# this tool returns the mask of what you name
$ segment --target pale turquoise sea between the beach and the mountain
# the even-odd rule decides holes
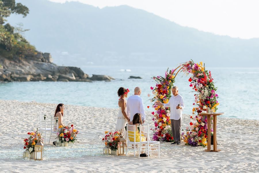
[[[172,69],[174,67],[170,67]],[[111,82],[10,82],[0,83],[0,99],[37,101],[43,103],[64,103],[69,105],[118,108],[117,90],[123,86],[134,94],[134,88],[142,88],[141,97],[145,110],[153,111],[147,94],[155,86],[153,76],[165,74],[167,67],[81,67],[89,75],[106,74],[116,80]],[[259,68],[210,68],[219,95],[218,112],[224,117],[259,120]],[[184,114],[191,114],[194,94],[189,86],[189,77],[179,73],[175,86],[183,96]],[[142,79],[128,79],[140,76]],[[147,108],[150,106],[151,108]],[[3,109],[3,108],[1,108]],[[54,108],[55,109],[55,108]]]

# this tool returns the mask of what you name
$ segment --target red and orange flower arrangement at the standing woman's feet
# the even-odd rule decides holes
[[[108,147],[112,151],[116,151],[119,147],[119,139],[120,139],[120,132],[115,131],[115,132],[108,132],[105,131],[105,137],[102,138],[102,141],[105,142],[105,146]]]

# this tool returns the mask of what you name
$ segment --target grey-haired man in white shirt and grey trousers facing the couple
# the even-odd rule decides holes
[[[178,87],[172,87],[172,93],[174,96],[170,98],[167,104],[163,104],[165,108],[170,107],[170,120],[171,120],[171,128],[172,135],[174,138],[174,142],[172,144],[181,144],[180,141],[180,131],[181,131],[181,119],[182,119],[182,111],[184,109],[184,101],[180,94],[178,94]],[[162,105],[160,101],[156,101],[157,105]],[[179,106],[178,106],[179,105]]]

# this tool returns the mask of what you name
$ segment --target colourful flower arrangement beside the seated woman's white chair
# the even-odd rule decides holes
[[[77,134],[79,131],[74,128],[74,125],[71,126],[62,126],[60,125],[58,127],[57,131],[57,142],[63,143],[63,142],[72,142],[74,143],[77,140]]]

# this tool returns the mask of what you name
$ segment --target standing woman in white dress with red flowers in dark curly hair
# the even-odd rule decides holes
[[[125,126],[127,124],[127,122],[129,122],[129,118],[127,117],[127,101],[126,101],[126,97],[128,96],[129,93],[129,89],[125,89],[123,87],[120,87],[118,90],[118,96],[120,97],[119,99],[119,115],[117,118],[117,124],[116,124],[116,128],[115,131],[119,131],[121,133],[123,133],[123,138],[127,138],[127,134],[125,131]],[[127,140],[127,139],[126,139]]]

